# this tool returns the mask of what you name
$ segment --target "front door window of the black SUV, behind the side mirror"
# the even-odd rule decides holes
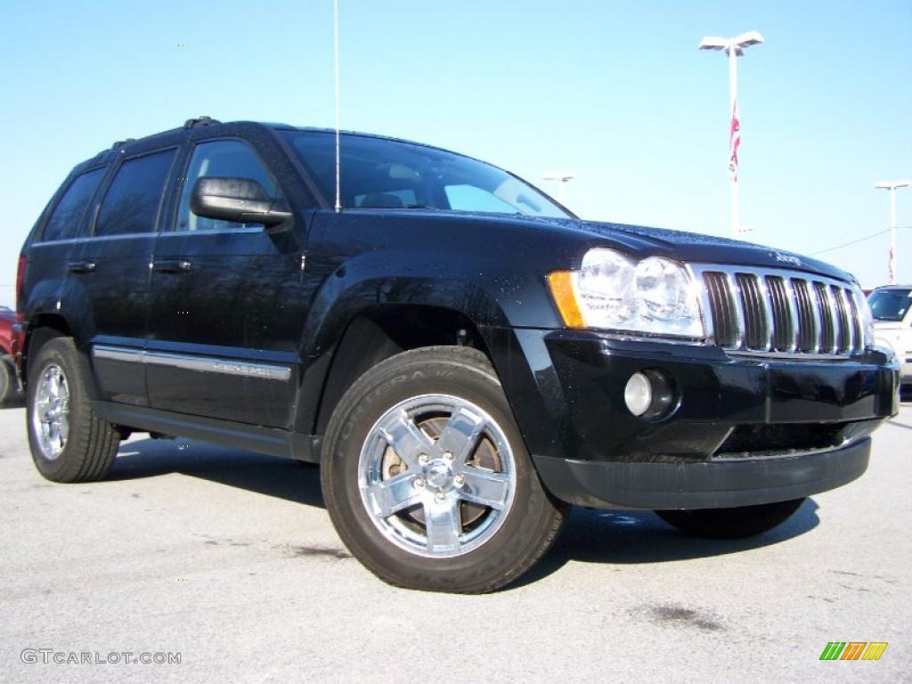
[[[209,219],[204,216],[197,216],[190,211],[190,195],[193,191],[193,185],[198,179],[205,176],[247,178],[260,183],[270,197],[276,197],[278,192],[275,179],[266,170],[254,150],[251,150],[246,143],[241,140],[202,142],[193,148],[193,156],[187,169],[187,177],[183,181],[181,204],[178,209],[177,225],[174,230],[230,230],[260,225],[259,223],[233,223],[231,221]]]

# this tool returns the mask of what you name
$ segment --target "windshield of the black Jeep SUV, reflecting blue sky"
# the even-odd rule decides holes
[[[336,197],[336,136],[284,131],[326,200]],[[341,203],[360,209],[441,209],[567,218],[570,213],[515,176],[482,161],[399,140],[341,138]]]

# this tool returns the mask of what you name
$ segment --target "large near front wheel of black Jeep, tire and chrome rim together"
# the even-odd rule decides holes
[[[322,459],[339,536],[395,586],[493,591],[532,567],[564,521],[491,364],[470,347],[415,349],[368,370],[333,412]]]

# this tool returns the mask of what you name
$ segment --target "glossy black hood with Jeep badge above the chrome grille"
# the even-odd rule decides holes
[[[552,223],[558,230],[569,230],[592,236],[592,238],[601,238],[636,256],[646,254],[667,256],[694,264],[735,264],[782,268],[840,280],[854,280],[853,276],[845,271],[817,259],[741,240],[624,223],[601,223],[573,219],[536,219],[535,223],[540,221]],[[601,242],[601,240],[597,242]],[[593,246],[596,246],[596,240],[593,240]]]

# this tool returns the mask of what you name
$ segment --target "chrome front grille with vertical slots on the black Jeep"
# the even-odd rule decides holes
[[[710,342],[755,354],[849,356],[864,348],[858,292],[780,269],[693,265]]]

